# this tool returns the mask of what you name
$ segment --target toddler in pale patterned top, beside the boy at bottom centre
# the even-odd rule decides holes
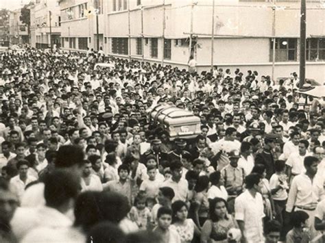
[[[138,194],[134,199],[134,206],[130,210],[130,218],[138,225],[139,229],[145,230],[150,223],[150,210],[146,207],[145,196]]]

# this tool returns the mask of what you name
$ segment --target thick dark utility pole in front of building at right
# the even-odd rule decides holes
[[[302,88],[306,75],[306,0],[301,0],[300,8],[299,88]]]

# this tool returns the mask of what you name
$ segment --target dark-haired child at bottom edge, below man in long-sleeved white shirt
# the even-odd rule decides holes
[[[308,243],[310,233],[306,228],[309,215],[304,211],[296,211],[291,214],[291,225],[293,229],[287,233],[286,243]]]

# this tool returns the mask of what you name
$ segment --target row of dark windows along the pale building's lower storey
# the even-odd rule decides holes
[[[69,43],[71,49],[86,50],[88,48],[88,38],[77,38],[78,47],[76,48],[76,38],[62,38],[62,47],[64,42]],[[136,55],[143,55],[143,39],[136,38]],[[176,47],[189,47],[188,39],[177,39]],[[91,38],[89,38],[91,42]],[[107,38],[105,38],[105,44]],[[144,38],[144,44],[149,44],[150,57],[158,58],[158,38]],[[273,40],[270,40],[269,61],[273,60]],[[112,53],[128,55],[128,38],[112,38]],[[171,39],[164,40],[164,58],[171,59]],[[298,39],[297,38],[276,38],[275,43],[275,61],[276,62],[294,62],[297,61]],[[306,60],[319,61],[325,60],[325,38],[309,38],[306,40]]]

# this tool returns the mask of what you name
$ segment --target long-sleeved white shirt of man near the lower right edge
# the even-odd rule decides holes
[[[324,188],[320,177],[314,177],[313,181],[306,175],[300,174],[293,178],[286,211],[291,212],[293,206],[313,208],[314,204],[322,199]]]

